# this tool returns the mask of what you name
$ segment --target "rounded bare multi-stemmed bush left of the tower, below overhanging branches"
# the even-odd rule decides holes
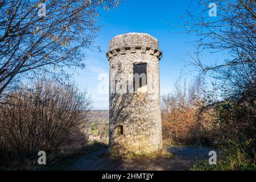
[[[0,105],[0,144],[6,150],[18,156],[56,151],[89,121],[92,100],[86,91],[51,80],[23,87]]]

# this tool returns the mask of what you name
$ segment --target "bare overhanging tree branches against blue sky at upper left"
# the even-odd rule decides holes
[[[116,6],[112,0],[1,0],[0,94],[15,78],[83,68],[81,48],[98,31],[98,8]]]

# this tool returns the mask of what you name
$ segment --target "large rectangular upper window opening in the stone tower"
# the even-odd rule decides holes
[[[147,64],[133,65],[133,91],[146,92]]]

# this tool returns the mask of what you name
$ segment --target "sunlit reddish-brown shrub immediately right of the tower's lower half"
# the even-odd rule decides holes
[[[177,81],[174,92],[162,97],[164,144],[208,143],[212,116],[200,112],[204,105],[203,89],[200,79],[188,87],[185,82]]]

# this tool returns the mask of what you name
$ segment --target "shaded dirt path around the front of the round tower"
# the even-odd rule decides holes
[[[189,170],[193,162],[209,158],[210,147],[168,147],[175,156],[169,159],[110,159],[101,150],[77,160],[67,170]]]

